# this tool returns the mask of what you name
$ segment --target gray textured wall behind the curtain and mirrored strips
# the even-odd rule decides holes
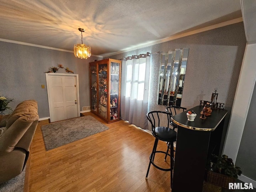
[[[199,104],[199,100],[210,100],[214,88],[218,88],[217,101],[225,103],[225,109],[229,111],[225,119],[224,134],[226,134],[245,46],[244,26],[240,22],[109,58],[122,59],[146,52],[167,52],[175,48],[189,48],[181,106],[192,108]],[[153,54],[151,58],[149,108],[165,110],[166,106],[156,103],[160,55]]]

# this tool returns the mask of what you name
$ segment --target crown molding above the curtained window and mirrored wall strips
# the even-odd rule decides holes
[[[126,50],[122,50],[122,51],[118,51],[118,52],[102,54],[101,56],[108,57],[108,56],[112,56],[112,55],[116,55],[116,54],[120,54],[120,53],[124,53],[124,52],[128,52],[128,51],[133,51],[133,50],[136,50],[136,49],[140,49],[140,48],[148,47],[148,46],[151,46],[151,45],[167,42],[167,41],[170,41],[170,40],[174,40],[174,39],[190,36],[190,35],[197,34],[197,33],[200,33],[200,32],[204,32],[204,31],[208,31],[208,30],[224,27],[224,26],[227,26],[227,25],[239,23],[239,22],[242,22],[242,21],[243,21],[243,18],[240,17],[240,18],[236,18],[236,19],[233,19],[233,20],[229,20],[229,21],[225,21],[225,22],[222,22],[222,23],[218,23],[218,24],[215,24],[215,25],[211,25],[211,26],[207,26],[207,27],[204,27],[204,28],[200,28],[200,29],[197,29],[197,30],[193,30],[193,31],[190,31],[190,32],[185,32],[185,33],[182,33],[182,34],[174,34],[174,35],[169,36],[167,38],[163,38],[161,40],[157,40],[157,41],[154,41],[154,42],[143,44],[141,46],[136,46],[136,47],[133,47],[133,48],[130,48],[130,49],[126,49]]]

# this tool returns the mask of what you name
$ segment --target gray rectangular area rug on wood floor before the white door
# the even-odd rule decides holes
[[[46,151],[108,130],[92,116],[54,122],[41,126]]]

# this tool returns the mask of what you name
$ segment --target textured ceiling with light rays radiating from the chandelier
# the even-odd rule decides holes
[[[106,55],[242,17],[240,0],[0,0],[0,39]]]

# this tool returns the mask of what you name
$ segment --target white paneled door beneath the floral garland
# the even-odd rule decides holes
[[[78,75],[46,74],[50,121],[79,116]]]

